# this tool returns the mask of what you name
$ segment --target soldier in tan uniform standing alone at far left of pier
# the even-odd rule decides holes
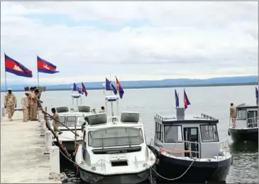
[[[8,93],[4,96],[4,108],[8,110],[9,121],[13,121],[13,113],[17,107],[16,96],[11,92],[11,88],[8,89]]]

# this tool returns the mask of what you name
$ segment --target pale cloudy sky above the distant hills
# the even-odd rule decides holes
[[[258,2],[5,1],[1,82],[4,53],[33,70],[8,84],[36,83],[37,55],[44,84],[258,75]]]

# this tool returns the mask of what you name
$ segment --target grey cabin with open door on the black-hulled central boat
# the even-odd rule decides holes
[[[173,156],[213,158],[219,154],[218,119],[206,114],[184,116],[184,108],[177,108],[177,117],[155,116],[154,144]]]

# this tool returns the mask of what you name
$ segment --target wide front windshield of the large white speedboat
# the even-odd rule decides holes
[[[112,146],[136,146],[143,143],[141,129],[113,127],[89,131],[88,144],[94,148]]]

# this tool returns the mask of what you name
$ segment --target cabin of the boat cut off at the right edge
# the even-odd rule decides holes
[[[258,128],[258,105],[240,104],[236,107],[236,114],[237,129]]]

